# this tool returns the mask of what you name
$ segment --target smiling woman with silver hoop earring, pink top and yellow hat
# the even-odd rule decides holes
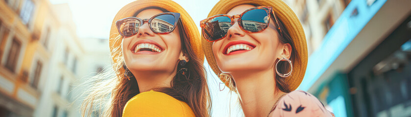
[[[282,0],[220,0],[208,17],[200,23],[207,61],[239,94],[245,117],[332,116],[313,95],[294,91],[306,71],[307,43]]]

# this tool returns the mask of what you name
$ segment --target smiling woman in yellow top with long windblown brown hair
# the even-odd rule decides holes
[[[100,104],[106,107],[103,117],[208,117],[211,102],[198,32],[171,0],[125,5],[110,31],[115,75],[89,91],[82,116]],[[107,95],[109,101],[101,105]]]

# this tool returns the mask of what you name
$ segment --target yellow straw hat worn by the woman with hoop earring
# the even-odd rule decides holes
[[[307,41],[305,39],[303,27],[301,26],[297,16],[282,0],[220,0],[213,7],[213,9],[211,9],[208,17],[218,14],[227,14],[232,8],[242,4],[271,6],[277,18],[280,19],[284,23],[284,26],[288,29],[291,39],[294,42],[295,49],[300,57],[300,61],[292,61],[293,67],[291,76],[285,78],[286,82],[289,84],[290,91],[295,90],[304,78],[308,61]],[[212,50],[213,42],[205,40],[203,36],[201,37],[201,41],[208,64],[213,69],[214,73],[219,75],[221,71],[217,66],[216,59],[214,58]],[[230,87],[229,79],[221,78],[221,81],[223,81],[226,86]],[[234,91],[235,89],[230,88],[230,90]]]

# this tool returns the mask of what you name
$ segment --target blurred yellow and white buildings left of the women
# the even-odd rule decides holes
[[[79,39],[68,4],[0,0],[0,117],[80,117],[82,82],[110,68],[108,39]]]

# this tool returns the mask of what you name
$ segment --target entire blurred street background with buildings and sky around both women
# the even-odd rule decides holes
[[[110,26],[132,1],[0,0],[0,117],[80,117],[80,84],[112,69]],[[218,2],[175,1],[199,30]],[[411,0],[284,1],[308,45],[298,89],[336,117],[411,117]],[[237,95],[204,66],[212,117],[242,117]]]

